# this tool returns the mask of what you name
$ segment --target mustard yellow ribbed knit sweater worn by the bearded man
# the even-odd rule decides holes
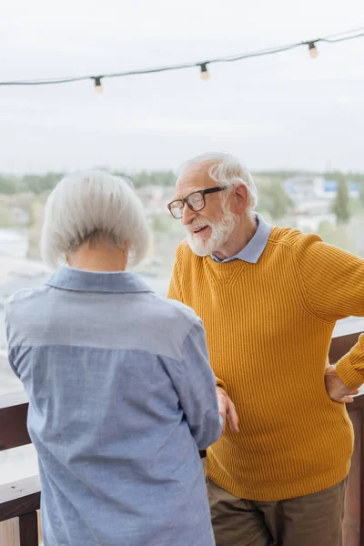
[[[235,402],[239,433],[207,450],[207,474],[239,498],[278,501],[324,490],[349,471],[353,431],[325,389],[335,322],[364,316],[364,260],[315,235],[274,227],[257,264],[177,249],[168,298],[207,330],[217,384]],[[364,382],[364,336],[338,363]]]

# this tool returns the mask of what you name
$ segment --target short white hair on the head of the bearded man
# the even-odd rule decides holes
[[[244,184],[248,189],[248,210],[254,210],[258,205],[258,190],[248,168],[230,154],[207,153],[193,157],[180,167],[178,177],[191,167],[210,165],[208,175],[218,186],[233,187]]]

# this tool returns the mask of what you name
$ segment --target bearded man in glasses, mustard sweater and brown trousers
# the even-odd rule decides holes
[[[230,425],[207,451],[217,546],[339,546],[364,336],[336,367],[328,352],[336,321],[364,315],[364,261],[268,226],[257,200],[237,159],[210,154],[168,205],[187,229],[168,297],[203,319]]]

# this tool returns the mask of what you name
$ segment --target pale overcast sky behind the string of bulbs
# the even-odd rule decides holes
[[[204,61],[364,26],[362,0],[2,0],[0,81]],[[207,151],[251,170],[364,171],[364,37],[149,76],[0,86],[0,172],[176,169]]]

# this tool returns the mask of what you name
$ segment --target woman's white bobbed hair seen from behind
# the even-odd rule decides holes
[[[97,238],[127,249],[131,265],[146,256],[147,218],[132,183],[98,170],[62,178],[45,204],[42,258],[57,268],[65,264],[66,254]]]

